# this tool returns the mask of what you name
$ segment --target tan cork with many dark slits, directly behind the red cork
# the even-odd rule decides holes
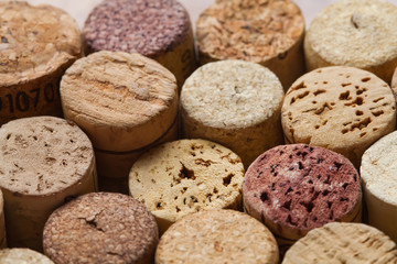
[[[369,72],[324,67],[292,84],[281,124],[286,142],[326,147],[360,167],[364,151],[395,130],[396,102],[390,87]]]

